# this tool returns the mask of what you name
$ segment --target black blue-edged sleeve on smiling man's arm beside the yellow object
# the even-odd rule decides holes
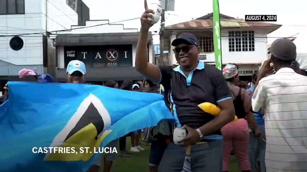
[[[214,86],[214,92],[216,97],[216,103],[224,100],[232,99],[228,84],[223,76],[222,71],[212,66],[212,72],[210,73],[212,84]]]

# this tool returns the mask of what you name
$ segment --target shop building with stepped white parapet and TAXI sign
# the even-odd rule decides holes
[[[110,24],[108,20],[86,21],[84,26],[72,26],[71,31],[57,34],[54,37],[57,81],[66,81],[67,64],[76,59],[85,63],[89,84],[142,80],[142,75],[134,68],[138,37],[138,29]],[[155,63],[151,33],[147,41],[148,62]]]

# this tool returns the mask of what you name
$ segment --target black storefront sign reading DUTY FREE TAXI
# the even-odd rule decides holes
[[[71,60],[80,60],[87,67],[132,66],[132,45],[64,47],[65,66]]]

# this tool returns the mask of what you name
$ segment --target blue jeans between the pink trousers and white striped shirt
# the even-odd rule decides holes
[[[265,153],[266,142],[264,125],[258,125],[258,129],[261,131],[261,137],[255,136],[253,131],[250,132],[250,141],[248,144],[248,154],[251,163],[251,172],[257,172],[256,163],[260,162],[260,172],[266,172]]]

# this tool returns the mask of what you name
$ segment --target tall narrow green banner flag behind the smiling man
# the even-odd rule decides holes
[[[217,69],[222,70],[219,0],[213,0],[213,42],[214,42],[215,66]]]

